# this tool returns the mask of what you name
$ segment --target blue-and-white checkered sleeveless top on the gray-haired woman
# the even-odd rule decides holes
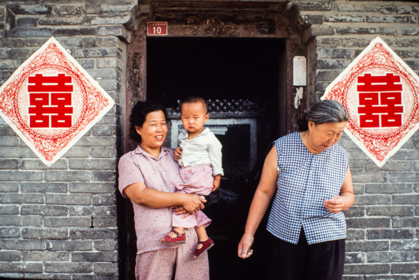
[[[349,166],[348,153],[335,144],[311,154],[298,132],[279,138],[274,146],[278,181],[267,230],[292,244],[297,244],[301,228],[308,244],[346,238],[344,213],[329,212],[323,202],[339,196]]]

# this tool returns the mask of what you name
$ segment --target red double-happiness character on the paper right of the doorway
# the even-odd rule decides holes
[[[400,77],[392,73],[358,77],[360,127],[402,126],[402,84],[395,82]]]

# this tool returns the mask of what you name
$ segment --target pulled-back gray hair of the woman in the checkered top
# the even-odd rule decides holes
[[[311,106],[304,118],[298,121],[298,126],[300,131],[307,131],[309,121],[313,121],[314,124],[325,124],[348,121],[348,119],[348,112],[341,103],[327,99]]]

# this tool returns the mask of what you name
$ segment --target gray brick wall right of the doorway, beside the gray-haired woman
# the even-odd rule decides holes
[[[313,24],[304,34],[311,103],[376,36],[419,74],[418,2],[330,1],[324,10],[297,6]],[[348,136],[341,139],[351,154],[355,187],[355,203],[346,212],[345,280],[419,279],[418,144],[417,132],[378,168]]]

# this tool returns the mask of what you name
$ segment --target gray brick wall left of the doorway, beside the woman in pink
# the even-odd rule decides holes
[[[116,102],[50,168],[0,119],[0,278],[119,279],[115,191],[129,40],[122,24],[134,6],[0,3],[0,84],[54,36]]]

